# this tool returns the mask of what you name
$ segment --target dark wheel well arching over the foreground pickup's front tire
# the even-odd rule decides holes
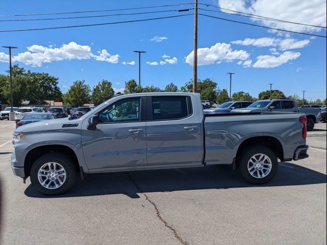
[[[77,169],[79,169],[78,159],[75,152],[65,145],[59,144],[51,144],[51,145],[42,145],[38,146],[37,148],[32,149],[25,158],[24,167],[25,167],[25,176],[30,176],[30,170],[33,163],[38,159],[40,156],[50,153],[50,152],[58,152],[66,154],[67,156],[71,157],[76,164]]]

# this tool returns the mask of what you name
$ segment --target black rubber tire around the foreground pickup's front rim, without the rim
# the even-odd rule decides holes
[[[65,169],[66,172],[66,179],[63,182],[63,184],[56,188],[56,189],[48,189],[41,185],[41,183],[38,180],[38,171],[44,165],[48,162],[56,162],[62,165],[62,167]],[[32,165],[31,171],[30,171],[30,178],[31,183],[33,187],[40,193],[44,195],[58,195],[62,194],[69,189],[73,187],[75,184],[75,181],[77,179],[77,168],[74,163],[74,161],[63,153],[47,153],[41,157],[39,157]]]

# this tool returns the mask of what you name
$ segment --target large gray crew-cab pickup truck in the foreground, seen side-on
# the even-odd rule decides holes
[[[214,164],[263,184],[275,176],[277,159],[308,157],[306,121],[300,113],[204,115],[198,93],[124,94],[80,118],[17,128],[11,167],[46,195],[89,173]]]

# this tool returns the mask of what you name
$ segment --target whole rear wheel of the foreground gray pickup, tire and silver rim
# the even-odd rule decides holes
[[[266,146],[249,146],[239,157],[242,176],[252,184],[265,184],[277,173],[276,154]]]

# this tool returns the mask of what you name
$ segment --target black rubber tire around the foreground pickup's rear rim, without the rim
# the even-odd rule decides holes
[[[266,177],[263,178],[255,178],[253,177],[248,170],[248,162],[252,158],[252,156],[256,154],[264,154],[270,158],[271,161],[271,170]],[[278,170],[278,161],[276,154],[271,151],[266,146],[256,146],[251,145],[245,148],[240,156],[238,157],[238,165],[240,166],[241,174],[244,177],[245,180],[250,182],[251,184],[265,184],[269,182],[271,179],[273,179],[277,173]]]

